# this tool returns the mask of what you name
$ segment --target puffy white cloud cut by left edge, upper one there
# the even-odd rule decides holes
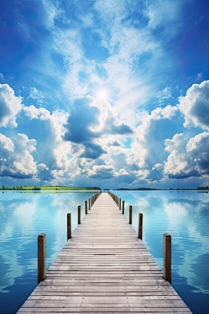
[[[0,84],[0,126],[17,127],[16,117],[22,107],[22,97],[15,96],[8,84]]]

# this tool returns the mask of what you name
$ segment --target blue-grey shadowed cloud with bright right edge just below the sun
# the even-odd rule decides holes
[[[107,101],[93,97],[76,101],[65,126],[65,140],[82,144],[85,149],[80,156],[89,159],[97,159],[107,152],[101,143],[103,137],[133,132],[130,126],[119,121]]]

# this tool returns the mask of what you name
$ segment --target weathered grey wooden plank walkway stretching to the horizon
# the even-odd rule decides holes
[[[102,193],[18,313],[191,313]]]

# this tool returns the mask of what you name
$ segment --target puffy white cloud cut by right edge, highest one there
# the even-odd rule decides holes
[[[179,97],[179,109],[183,113],[185,127],[199,126],[209,129],[209,81],[193,84],[186,95]]]

